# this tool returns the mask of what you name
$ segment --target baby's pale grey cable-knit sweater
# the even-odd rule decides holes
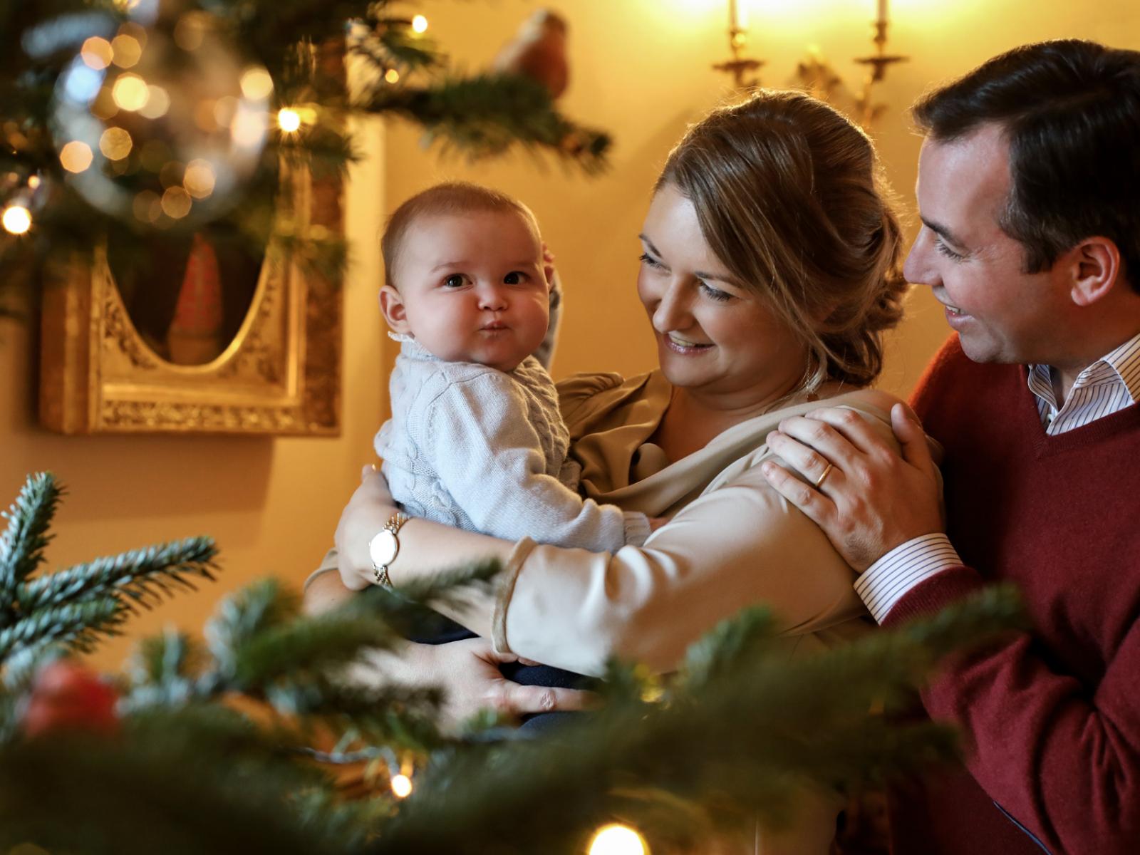
[[[612,552],[640,546],[649,518],[583,499],[549,374],[535,357],[504,373],[448,363],[413,339],[390,380],[376,454],[409,514],[508,540]]]

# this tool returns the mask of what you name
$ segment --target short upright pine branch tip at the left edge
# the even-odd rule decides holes
[[[50,472],[27,477],[16,502],[0,513],[8,527],[0,535],[0,605],[9,605],[16,587],[43,563],[43,551],[51,540],[48,527],[56,515],[64,487]],[[5,613],[6,612],[6,613]],[[15,616],[0,612],[0,626]]]

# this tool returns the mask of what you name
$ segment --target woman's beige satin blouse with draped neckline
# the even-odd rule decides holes
[[[821,402],[742,422],[670,464],[649,442],[671,394],[660,372],[576,376],[559,392],[586,495],[671,519],[616,553],[520,542],[496,604],[496,649],[580,674],[601,674],[611,656],[665,671],[752,603],[773,609],[796,652],[869,628],[854,571],[759,470],[767,433]],[[856,390],[825,405],[858,412],[895,443],[889,414],[871,400]]]

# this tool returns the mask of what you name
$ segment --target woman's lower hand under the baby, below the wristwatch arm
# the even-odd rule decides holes
[[[578,689],[524,686],[499,673],[503,662],[515,662],[512,653],[496,653],[486,638],[448,644],[412,644],[398,654],[376,651],[352,667],[351,678],[366,685],[398,683],[439,686],[443,690],[440,726],[454,730],[488,707],[512,716],[554,710],[580,710],[594,706],[597,695]]]

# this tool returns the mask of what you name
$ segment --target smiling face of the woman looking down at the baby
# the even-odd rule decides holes
[[[640,237],[637,294],[670,383],[747,407],[804,376],[806,348],[714,255],[693,203],[674,185],[653,196]]]

